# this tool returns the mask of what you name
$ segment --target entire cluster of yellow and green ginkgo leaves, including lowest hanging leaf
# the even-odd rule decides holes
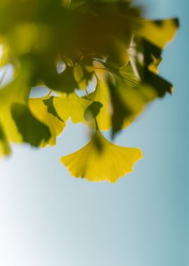
[[[10,155],[10,143],[55,146],[71,118],[92,132],[61,158],[71,175],[113,183],[132,172],[141,150],[116,146],[101,131],[114,137],[172,93],[158,66],[178,27],[176,18],[142,18],[129,0],[1,0],[1,71],[11,65],[14,77],[0,89],[0,156]],[[31,98],[34,87],[49,92]]]

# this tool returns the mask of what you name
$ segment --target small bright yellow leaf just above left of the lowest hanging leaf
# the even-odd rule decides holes
[[[90,104],[92,104],[91,101],[78,97],[75,92],[53,98],[53,105],[58,116],[64,121],[71,118],[72,123],[87,123],[85,110]]]

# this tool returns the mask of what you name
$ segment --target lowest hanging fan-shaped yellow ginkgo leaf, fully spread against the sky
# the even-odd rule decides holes
[[[99,131],[80,150],[60,160],[71,176],[88,181],[115,183],[120,176],[133,171],[134,164],[143,157],[139,148],[125,148],[111,144]]]

